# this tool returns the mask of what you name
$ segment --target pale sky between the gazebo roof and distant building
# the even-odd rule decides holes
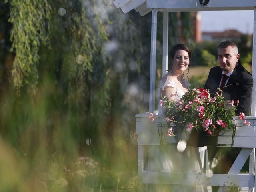
[[[254,11],[202,11],[202,32],[236,29],[245,34],[253,33]]]

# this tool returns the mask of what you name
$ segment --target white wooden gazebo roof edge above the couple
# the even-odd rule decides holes
[[[203,0],[204,1],[204,0]],[[213,11],[213,10],[254,10],[255,0],[208,0],[206,6],[200,4],[202,0],[115,0],[117,8],[124,13],[132,9],[141,16],[151,12],[152,9],[168,9],[168,11]],[[206,0],[207,2],[207,0]]]

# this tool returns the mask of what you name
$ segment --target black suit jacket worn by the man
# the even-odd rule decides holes
[[[211,68],[204,88],[209,89],[210,93],[215,93],[218,91],[221,77],[222,69],[220,66]],[[252,85],[252,75],[238,61],[233,74],[228,79],[227,87],[222,89],[224,100],[239,100],[236,116],[239,116],[240,112],[249,116],[252,103]]]

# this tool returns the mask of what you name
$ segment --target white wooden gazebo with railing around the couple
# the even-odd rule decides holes
[[[196,182],[199,185],[222,186],[218,191],[224,191],[227,186],[248,187],[249,191],[254,191],[256,187],[255,177],[255,148],[256,148],[256,0],[115,0],[117,8],[121,8],[124,13],[135,9],[141,16],[152,12],[151,24],[151,51],[150,51],[150,103],[149,112],[136,115],[136,132],[138,133],[138,186],[143,190],[144,184],[191,184]],[[242,147],[240,154],[234,162],[228,174],[213,174],[211,177],[206,173],[185,173],[185,180],[175,180],[178,173],[153,172],[144,170],[144,153],[147,146],[160,146],[160,139],[157,125],[164,122],[164,118],[155,118],[153,122],[148,120],[148,114],[155,111],[155,74],[156,74],[156,30],[157,13],[163,12],[163,55],[162,74],[168,67],[168,12],[180,11],[216,11],[216,10],[254,10],[254,33],[253,33],[253,60],[252,77],[253,95],[251,106],[251,117],[246,120],[251,122],[251,126],[243,126],[240,120],[234,120],[237,124],[236,136],[233,147]],[[234,18],[235,19],[235,18]],[[221,22],[221,21],[220,21]],[[232,139],[230,131],[218,137],[218,144],[226,144]],[[168,142],[175,143],[175,139],[170,137]],[[249,174],[240,175],[239,172],[250,155]],[[207,159],[207,157],[206,157]],[[204,157],[202,156],[202,160]],[[206,160],[207,161],[207,160]],[[200,178],[198,180],[198,178]]]

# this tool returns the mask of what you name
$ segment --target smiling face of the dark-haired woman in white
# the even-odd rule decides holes
[[[188,52],[185,50],[177,50],[171,62],[172,70],[177,74],[182,74],[189,65]]]

